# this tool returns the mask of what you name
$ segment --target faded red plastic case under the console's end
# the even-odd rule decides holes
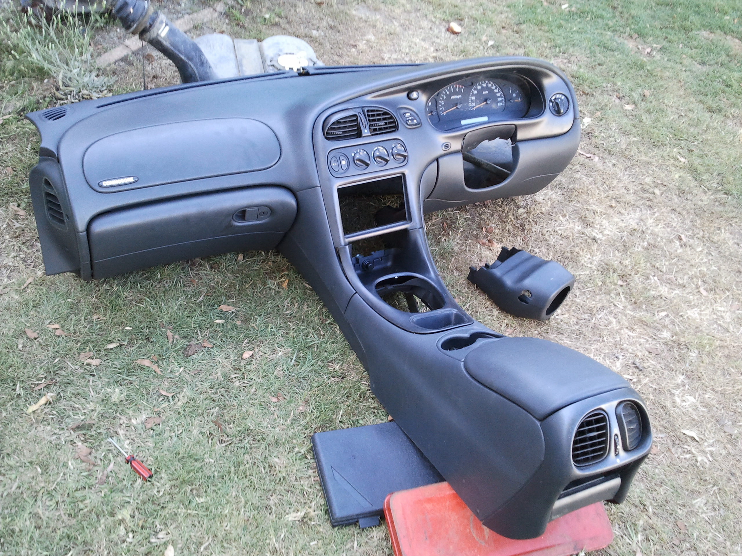
[[[535,539],[502,537],[483,526],[448,483],[393,492],[384,517],[394,556],[568,556],[613,540],[602,502],[559,517]]]

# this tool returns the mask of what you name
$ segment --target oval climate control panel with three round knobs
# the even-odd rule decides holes
[[[339,178],[374,172],[407,164],[407,147],[399,139],[388,139],[364,145],[330,150],[327,154],[329,173]]]

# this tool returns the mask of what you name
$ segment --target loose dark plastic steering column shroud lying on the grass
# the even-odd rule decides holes
[[[548,320],[574,286],[574,276],[555,261],[502,248],[495,262],[470,268],[468,279],[503,311],[525,319]]]

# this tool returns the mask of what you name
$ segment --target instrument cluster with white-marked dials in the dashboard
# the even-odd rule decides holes
[[[427,119],[447,131],[522,118],[531,105],[530,89],[525,79],[513,75],[461,79],[430,97]]]

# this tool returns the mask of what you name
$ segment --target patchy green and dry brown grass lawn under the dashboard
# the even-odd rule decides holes
[[[161,5],[178,17],[207,4]],[[601,554],[741,555],[742,5],[226,7],[191,34],[296,35],[327,64],[523,54],[565,70],[580,101],[580,153],[534,196],[427,216],[433,256],[485,325],[582,351],[645,397],[655,447],[627,502],[608,507],[615,539]],[[463,33],[446,33],[449,21]],[[33,62],[22,36],[35,31],[3,25],[0,554],[162,555],[172,545],[176,555],[390,555],[383,526],[329,524],[309,437],[387,413],[285,259],[226,254],[89,283],[43,275],[27,185],[39,139],[22,114],[86,93],[60,90]],[[63,38],[83,69],[85,56],[125,38],[105,19],[88,26],[89,41],[78,31]],[[148,84],[177,82],[154,53],[88,83],[134,90],[142,64]],[[562,262],[574,294],[548,322],[502,314],[465,280],[469,265],[497,255],[479,239]],[[186,357],[188,344],[201,348]],[[52,402],[27,414],[45,393]],[[108,437],[154,480],[138,480]]]

